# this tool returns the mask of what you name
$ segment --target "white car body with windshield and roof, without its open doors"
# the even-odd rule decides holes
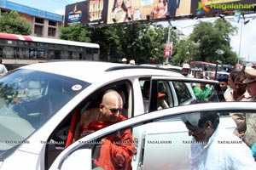
[[[131,118],[163,109],[159,94],[167,107],[190,104],[195,94],[187,81],[192,80],[157,68],[90,61],[46,62],[9,71],[0,77],[0,169],[48,169],[72,143],[67,136],[77,121],[73,117],[98,107],[109,88],[119,91],[123,115]],[[144,105],[147,81],[150,93]]]

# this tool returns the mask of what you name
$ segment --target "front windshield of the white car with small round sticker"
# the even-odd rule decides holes
[[[0,78],[0,155],[27,137],[90,85],[71,77],[20,69]]]

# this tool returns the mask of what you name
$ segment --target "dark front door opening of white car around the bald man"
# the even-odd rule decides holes
[[[100,111],[99,106],[102,103],[102,96],[109,89],[116,90],[122,97],[122,116],[125,116],[125,118],[130,118],[132,116],[133,105],[131,100],[131,82],[113,82],[97,89],[81,103],[78,103],[77,108],[55,128],[53,133],[51,133],[47,140],[45,150],[46,167],[49,168],[51,163],[55,160],[55,157],[74,141],[94,132],[84,130],[84,127],[89,126],[90,123],[96,122]]]

